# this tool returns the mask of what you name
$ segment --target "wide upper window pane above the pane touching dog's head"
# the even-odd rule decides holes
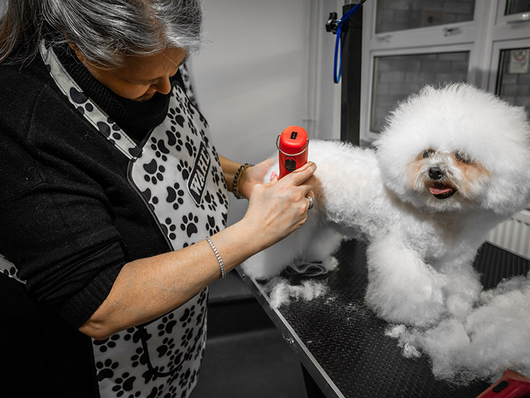
[[[375,32],[472,21],[475,0],[377,0]]]

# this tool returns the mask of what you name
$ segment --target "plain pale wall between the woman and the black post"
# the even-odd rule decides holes
[[[220,154],[257,163],[275,153],[276,136],[292,124],[314,131],[316,122],[317,130],[326,131],[324,138],[333,136],[328,127],[332,122],[322,126],[320,120],[320,115],[333,115],[333,98],[320,98],[334,92],[332,66],[326,72],[321,66],[323,57],[322,64],[333,65],[333,52],[317,48],[333,42],[331,34],[323,38],[331,10],[320,15],[329,3],[337,0],[204,0],[205,40],[191,69],[199,106]],[[312,38],[315,29],[319,33]],[[318,50],[317,72],[311,76],[310,48]],[[327,85],[321,75],[328,78]],[[231,196],[229,223],[243,216],[246,205],[246,200]]]

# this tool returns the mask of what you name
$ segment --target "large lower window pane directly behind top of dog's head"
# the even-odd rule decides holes
[[[469,52],[375,57],[370,131],[379,132],[397,101],[425,84],[466,82]]]

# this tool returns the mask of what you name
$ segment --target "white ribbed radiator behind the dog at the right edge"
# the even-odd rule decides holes
[[[530,258],[530,210],[516,213],[494,228],[486,237],[488,242]]]

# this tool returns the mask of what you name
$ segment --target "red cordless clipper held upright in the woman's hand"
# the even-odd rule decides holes
[[[276,147],[280,156],[280,175],[282,178],[301,168],[308,163],[308,133],[302,127],[289,126],[278,138],[276,138]]]

